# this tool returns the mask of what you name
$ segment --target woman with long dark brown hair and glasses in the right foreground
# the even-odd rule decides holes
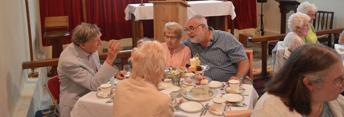
[[[321,44],[294,49],[267,83],[251,117],[344,117],[341,56]]]

